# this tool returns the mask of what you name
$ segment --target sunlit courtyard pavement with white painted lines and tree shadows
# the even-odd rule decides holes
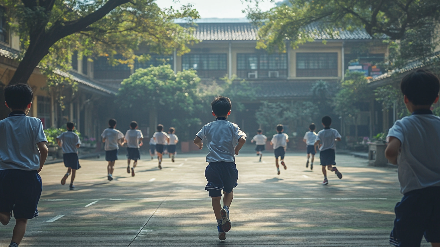
[[[179,154],[176,162],[143,155],[136,176],[119,156],[114,180],[107,181],[106,161],[80,160],[76,189],[62,186],[62,163],[45,165],[40,216],[29,220],[20,247],[257,247],[389,246],[394,205],[400,201],[396,168],[367,166],[367,160],[337,155],[342,180],[330,173],[321,185],[319,161],[305,168],[303,153],[289,153],[287,170],[276,174],[274,158],[251,153],[236,157],[238,187],[232,202],[232,229],[217,238],[202,153]],[[15,221],[0,227],[7,246]],[[422,246],[430,246],[422,240]]]

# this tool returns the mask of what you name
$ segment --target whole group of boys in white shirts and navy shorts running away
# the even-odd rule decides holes
[[[396,204],[394,228],[390,234],[390,243],[396,247],[420,246],[422,236],[432,244],[440,247],[440,117],[434,116],[431,106],[439,100],[440,82],[430,71],[417,70],[406,75],[400,84],[404,103],[412,112],[411,116],[397,120],[387,135],[388,146],[385,156],[392,164],[399,166],[398,176],[400,191],[403,194],[401,202]],[[42,181],[39,172],[43,169],[48,155],[48,142],[44,135],[41,121],[26,116],[32,105],[33,91],[27,84],[16,84],[4,88],[6,106],[11,109],[9,116],[0,121],[0,222],[7,225],[12,214],[15,217],[15,228],[9,247],[18,247],[25,232],[28,219],[38,216],[37,204],[42,191]],[[226,239],[226,233],[231,229],[230,208],[234,197],[233,189],[238,185],[238,170],[235,165],[235,155],[238,155],[246,142],[246,134],[237,124],[231,123],[227,117],[231,114],[231,100],[218,96],[211,103],[212,114],[216,117],[213,122],[205,124],[194,138],[194,144],[199,149],[203,143],[209,153],[205,168],[207,184],[205,190],[212,200],[218,238]],[[309,164],[310,155],[313,168],[314,153],[320,150],[320,160],[326,179],[326,170],[335,172],[338,178],[341,173],[334,165],[335,142],[341,141],[337,130],[330,128],[331,118],[322,118],[323,130],[317,134],[315,125],[309,127],[304,136],[307,144]],[[112,180],[114,161],[117,160],[118,146],[127,143],[128,167],[132,172],[139,159],[139,147],[142,146],[143,135],[137,130],[137,123],[130,123],[130,130],[125,135],[115,129],[116,121],[109,121],[109,128],[103,134],[106,160],[108,163],[108,180]],[[73,132],[73,123],[67,123],[67,131],[58,136],[57,141],[64,152],[65,166],[68,172],[62,179],[66,182],[72,174],[70,188],[73,189],[75,171],[81,166],[76,155],[81,142]],[[170,146],[178,142],[173,134],[163,132],[163,126],[158,125],[154,133],[155,150],[158,152],[159,168],[161,168],[164,144],[168,143],[170,155],[175,150]],[[271,144],[275,153],[275,164],[278,168],[278,158],[286,169],[284,154],[288,135],[283,133],[282,125],[276,127],[277,134],[272,137]],[[173,137],[174,136],[174,137]],[[257,155],[262,156],[267,138],[258,131],[253,138],[257,144]],[[173,144],[174,143],[174,144]],[[130,168],[130,161],[134,160]],[[327,168],[327,169],[326,169]],[[221,203],[223,192],[223,206]]]

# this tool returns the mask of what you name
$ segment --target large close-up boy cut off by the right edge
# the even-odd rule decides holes
[[[389,130],[385,156],[399,166],[400,192],[390,243],[420,246],[422,236],[440,247],[440,118],[431,105],[439,100],[440,83],[430,71],[419,69],[400,83],[411,116]]]

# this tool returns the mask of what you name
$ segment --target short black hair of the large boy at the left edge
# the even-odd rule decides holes
[[[33,91],[25,83],[13,84],[4,88],[4,98],[9,108],[26,109],[26,106],[32,102]]]

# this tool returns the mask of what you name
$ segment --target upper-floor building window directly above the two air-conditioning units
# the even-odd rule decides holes
[[[237,74],[241,78],[287,78],[287,54],[238,53]]]

